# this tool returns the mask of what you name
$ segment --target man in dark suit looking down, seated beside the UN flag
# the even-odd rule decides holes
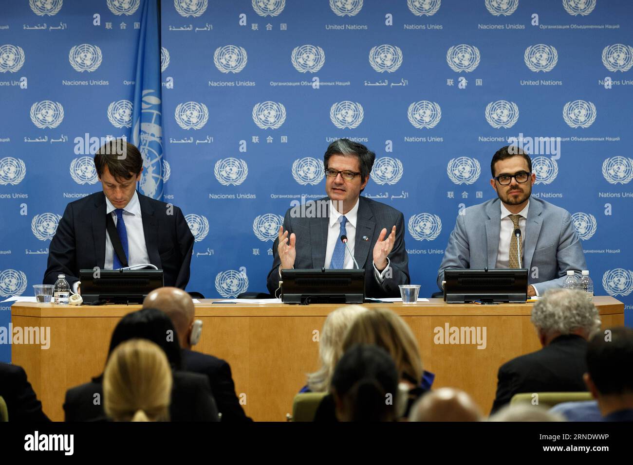
[[[165,285],[184,289],[194,237],[180,208],[135,190],[143,170],[141,152],[128,142],[112,140],[97,151],[94,164],[103,192],[66,206],[49,247],[44,284],[54,284],[63,273],[77,292],[79,270],[151,263],[163,270]],[[122,245],[120,253],[106,232],[108,216]]]

